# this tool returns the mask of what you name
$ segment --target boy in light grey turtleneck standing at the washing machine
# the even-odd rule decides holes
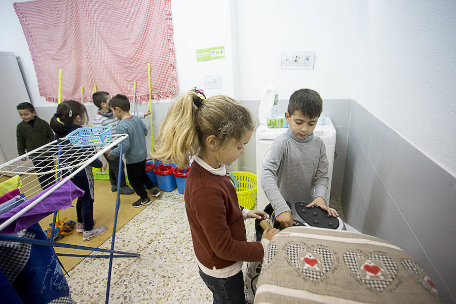
[[[322,110],[323,101],[316,91],[294,92],[285,112],[289,129],[276,138],[263,162],[261,186],[281,228],[292,226],[293,218],[298,219],[295,202],[308,203],[308,208],[319,206],[338,216],[327,204],[329,174],[325,144],[313,134]],[[286,202],[291,203],[291,209]]]

